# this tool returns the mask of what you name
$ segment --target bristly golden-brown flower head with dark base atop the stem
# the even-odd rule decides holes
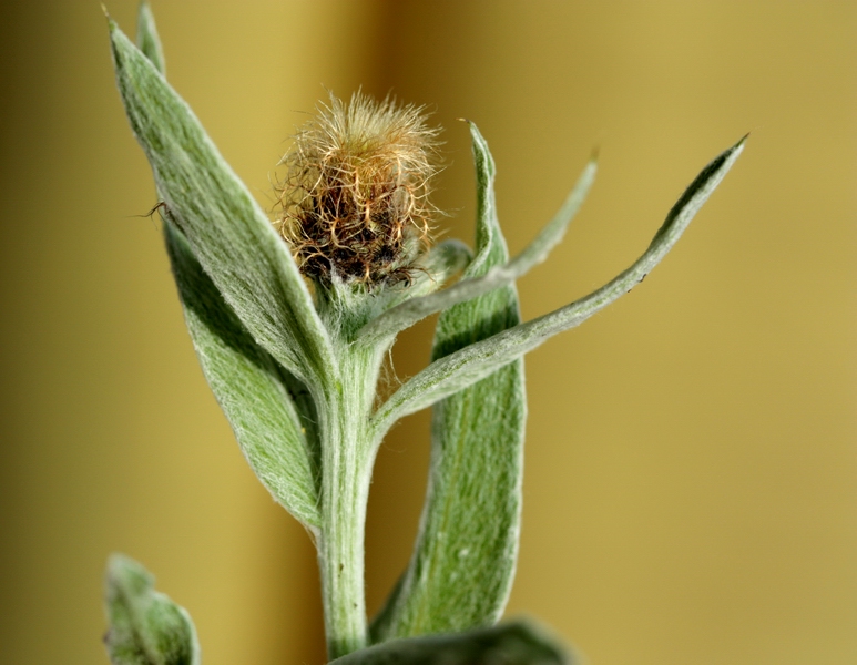
[[[408,277],[429,241],[438,130],[422,109],[330,95],[283,157],[279,229],[302,272],[367,286]]]

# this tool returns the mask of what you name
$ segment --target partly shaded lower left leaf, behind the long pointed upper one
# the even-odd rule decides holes
[[[200,365],[244,457],[278,503],[317,526],[318,437],[306,389],[253,340],[169,221],[164,235]]]

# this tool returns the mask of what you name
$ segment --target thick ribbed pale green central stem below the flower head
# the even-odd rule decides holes
[[[340,382],[328,393],[322,423],[322,529],[318,567],[327,655],[367,645],[364,532],[374,448],[367,424],[380,364],[375,350],[339,346]]]

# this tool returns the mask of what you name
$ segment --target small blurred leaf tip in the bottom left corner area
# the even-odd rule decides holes
[[[200,645],[190,615],[154,591],[137,562],[114,554],[108,562],[104,635],[113,665],[197,665]]]

